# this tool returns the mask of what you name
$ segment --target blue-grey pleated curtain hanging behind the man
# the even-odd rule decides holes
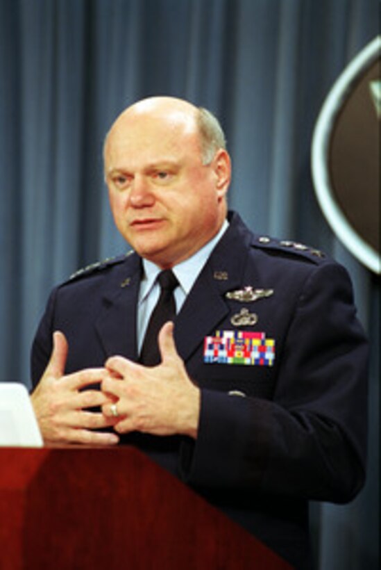
[[[378,0],[0,0],[0,381],[29,384],[53,286],[127,249],[108,210],[101,147],[149,95],[206,106],[226,129],[230,206],[255,231],[319,247],[348,268],[371,339],[366,488],[313,505],[321,570],[378,569],[380,283],[316,204],[316,116],[378,33]]]

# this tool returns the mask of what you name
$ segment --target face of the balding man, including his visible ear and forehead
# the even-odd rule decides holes
[[[228,154],[203,165],[194,115],[130,112],[105,149],[110,205],[120,233],[162,268],[187,259],[217,234],[226,215]]]

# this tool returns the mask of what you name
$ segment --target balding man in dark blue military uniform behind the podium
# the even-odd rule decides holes
[[[133,252],[51,294],[32,355],[46,443],[136,445],[306,568],[307,500],[364,483],[367,348],[346,270],[228,213],[223,133],[187,101],[121,113],[105,179]]]

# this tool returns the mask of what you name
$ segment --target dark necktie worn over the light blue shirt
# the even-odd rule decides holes
[[[160,363],[159,331],[167,320],[174,320],[176,316],[176,304],[173,297],[173,291],[178,286],[176,276],[170,269],[166,269],[159,274],[158,282],[161,293],[152,311],[139,358],[139,361],[146,366],[155,366]]]

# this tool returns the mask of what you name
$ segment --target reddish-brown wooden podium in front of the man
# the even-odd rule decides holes
[[[1,448],[1,570],[289,570],[135,448]]]

